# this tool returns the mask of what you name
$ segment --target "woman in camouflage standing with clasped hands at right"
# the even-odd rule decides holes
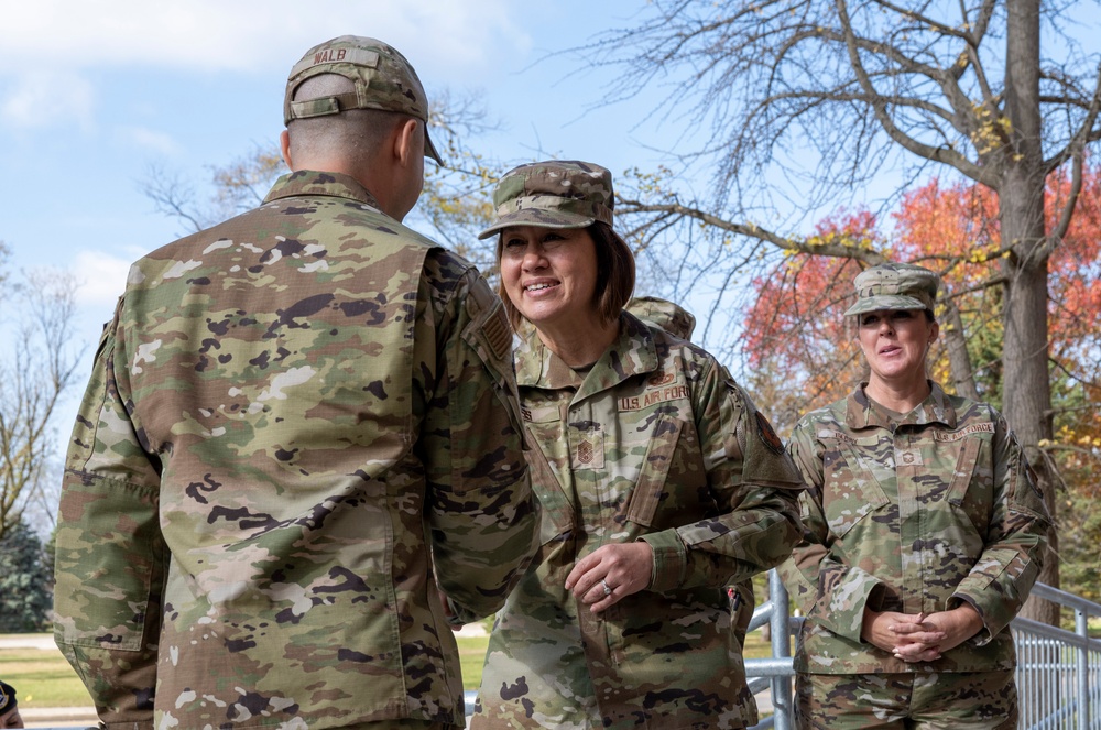
[[[869,380],[788,447],[809,487],[781,568],[806,614],[799,727],[1013,728],[1007,624],[1040,569],[1044,501],[1005,420],[926,379],[937,275],[891,263],[855,285]]]

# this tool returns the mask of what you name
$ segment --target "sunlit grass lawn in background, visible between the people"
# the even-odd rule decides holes
[[[42,634],[52,641],[48,634]],[[2,639],[4,636],[0,636]],[[456,636],[462,665],[462,686],[478,689],[489,636]],[[745,639],[745,657],[771,655],[767,642],[754,631]],[[0,649],[0,678],[15,687],[21,707],[90,707],[91,698],[56,647]]]

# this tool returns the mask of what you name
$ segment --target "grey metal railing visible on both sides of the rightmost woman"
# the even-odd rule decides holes
[[[1033,596],[1073,613],[1069,631],[1028,619],[1010,624],[1017,649],[1017,697],[1023,730],[1101,730],[1101,640],[1091,639],[1090,619],[1101,618],[1101,604],[1051,588],[1033,587]],[[745,674],[754,695],[771,690],[773,715],[752,730],[794,730],[792,635],[802,619],[787,612],[787,591],[776,570],[768,571],[768,600],[757,607],[750,631],[768,624],[772,657],[746,660]]]

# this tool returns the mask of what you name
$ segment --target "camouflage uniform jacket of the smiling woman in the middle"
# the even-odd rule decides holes
[[[630,314],[586,377],[532,334],[516,379],[543,547],[498,617],[471,727],[754,723],[724,587],[789,554],[802,489],[767,421],[711,356]],[[593,614],[564,588],[636,540],[647,589]]]

